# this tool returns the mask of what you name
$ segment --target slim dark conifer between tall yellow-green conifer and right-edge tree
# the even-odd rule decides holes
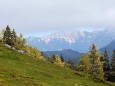
[[[107,80],[108,76],[110,75],[110,64],[109,64],[109,56],[108,52],[105,49],[104,55],[103,55],[103,71],[104,71],[104,77]]]

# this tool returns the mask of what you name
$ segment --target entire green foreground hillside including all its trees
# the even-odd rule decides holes
[[[0,86],[115,86],[115,50],[101,54],[95,44],[78,64],[48,56],[26,43],[9,26],[0,39]]]

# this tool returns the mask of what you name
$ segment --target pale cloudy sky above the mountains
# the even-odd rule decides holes
[[[25,36],[115,28],[115,0],[0,0],[0,29]]]

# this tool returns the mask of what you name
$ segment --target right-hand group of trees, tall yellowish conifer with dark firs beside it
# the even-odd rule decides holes
[[[80,58],[76,70],[87,73],[94,79],[115,81],[115,50],[110,61],[106,49],[101,54],[96,45],[92,44],[89,52]]]

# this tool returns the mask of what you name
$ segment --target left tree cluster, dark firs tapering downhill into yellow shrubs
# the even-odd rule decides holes
[[[9,26],[2,30],[0,42],[1,44],[7,44],[11,46],[11,49],[15,49],[32,57],[45,60],[44,56],[37,48],[33,48],[27,44],[26,39],[23,37],[22,33],[18,36],[15,30],[11,30]]]

